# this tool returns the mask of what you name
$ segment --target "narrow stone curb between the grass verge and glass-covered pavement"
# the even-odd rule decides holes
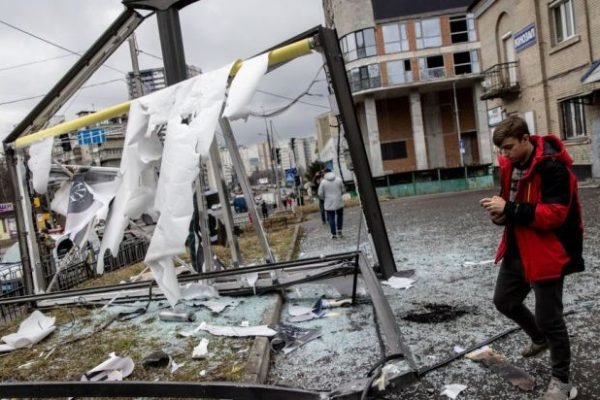
[[[294,250],[298,242],[298,236],[300,233],[300,223],[296,225],[294,233],[292,235],[292,243],[285,257],[285,261],[291,260],[294,255]],[[275,297],[275,302],[267,310],[263,316],[262,323],[266,325],[275,325],[279,323],[281,316],[281,307],[283,305],[283,297],[279,293]],[[267,374],[269,373],[269,364],[271,363],[271,346],[269,344],[269,338],[259,336],[254,338],[254,343],[250,349],[250,355],[248,356],[248,362],[242,377],[244,383],[263,384],[267,380]]]

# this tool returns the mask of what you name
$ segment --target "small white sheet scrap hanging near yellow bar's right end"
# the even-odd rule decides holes
[[[246,120],[248,118],[250,114],[248,104],[268,67],[269,53],[244,61],[240,70],[235,74],[233,82],[231,82],[223,117],[230,121],[240,118]]]

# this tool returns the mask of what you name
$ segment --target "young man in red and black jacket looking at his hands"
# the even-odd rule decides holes
[[[564,276],[583,271],[583,225],[573,160],[554,135],[530,135],[508,117],[494,131],[500,149],[500,196],[484,198],[492,222],[505,225],[496,262],[502,264],[494,304],[531,338],[521,354],[550,349],[552,377],[542,399],[570,398],[569,335],[563,318]],[[523,304],[533,289],[535,316]]]

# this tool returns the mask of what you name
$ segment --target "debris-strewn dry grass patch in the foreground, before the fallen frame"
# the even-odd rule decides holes
[[[75,324],[72,333],[51,334],[44,341],[31,349],[20,349],[1,358],[0,382],[4,381],[59,381],[79,380],[87,370],[95,367],[115,352],[121,357],[131,357],[135,369],[127,379],[139,381],[231,381],[241,380],[247,361],[247,354],[252,345],[252,339],[211,337],[210,359],[193,360],[189,357],[192,349],[198,344],[197,338],[181,339],[176,350],[169,351],[170,355],[185,366],[171,373],[168,368],[142,367],[141,361],[148,354],[160,350],[168,343],[159,333],[146,332],[138,329],[139,324],[129,326],[114,322],[109,328],[92,336],[80,334],[79,326],[91,324],[90,311],[85,309],[61,309],[47,313],[57,317],[57,325]],[[143,317],[142,317],[143,318]],[[143,324],[145,321],[141,321]],[[93,329],[103,323],[96,323]],[[7,329],[8,330],[8,329]],[[8,330],[12,331],[12,330]],[[76,343],[63,345],[65,341],[78,336],[83,339]],[[50,351],[52,353],[50,354]],[[47,358],[46,356],[49,355]],[[200,372],[207,371],[201,377]]]

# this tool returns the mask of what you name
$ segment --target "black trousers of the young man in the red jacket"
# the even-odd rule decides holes
[[[563,318],[563,281],[563,278],[559,278],[529,284],[524,279],[521,260],[505,258],[498,272],[494,304],[498,311],[523,328],[534,342],[548,341],[552,375],[567,382],[571,348]],[[535,294],[535,316],[523,304],[532,288]]]

